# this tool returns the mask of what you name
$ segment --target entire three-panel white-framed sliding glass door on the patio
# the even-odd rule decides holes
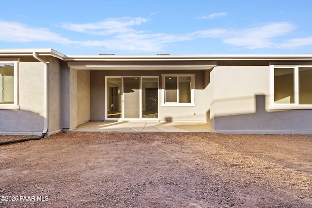
[[[106,119],[157,119],[158,77],[107,77]]]

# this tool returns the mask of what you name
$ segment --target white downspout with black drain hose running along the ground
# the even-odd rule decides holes
[[[48,131],[48,63],[42,60],[41,58],[39,58],[36,52],[33,52],[33,57],[44,64],[44,129],[42,131],[42,135],[41,137],[38,137],[38,138],[25,138],[25,139],[4,141],[4,142],[0,142],[0,145],[16,143],[16,142],[25,142],[29,140],[39,140],[39,139],[44,138]]]

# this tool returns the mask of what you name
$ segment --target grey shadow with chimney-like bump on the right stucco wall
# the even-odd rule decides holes
[[[312,131],[312,110],[279,110],[267,112],[265,95],[255,96],[255,112],[215,115],[211,126],[215,131]]]

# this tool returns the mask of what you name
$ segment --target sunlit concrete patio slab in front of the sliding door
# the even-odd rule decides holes
[[[72,132],[214,132],[206,122],[100,122],[90,121]]]

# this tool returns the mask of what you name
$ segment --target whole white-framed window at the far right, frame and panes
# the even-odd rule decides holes
[[[312,108],[312,66],[272,66],[271,77],[271,107]]]

